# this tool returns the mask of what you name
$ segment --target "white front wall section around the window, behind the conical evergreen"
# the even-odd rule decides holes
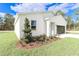
[[[19,16],[21,17],[20,18],[21,38],[23,37],[23,28],[24,28],[25,17],[27,17],[30,22],[31,22],[31,20],[36,20],[36,30],[32,30],[32,36],[39,36],[39,35],[45,34],[45,30],[44,30],[45,22],[43,20],[42,15],[40,15],[40,14],[20,14]]]

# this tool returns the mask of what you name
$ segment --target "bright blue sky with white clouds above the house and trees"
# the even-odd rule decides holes
[[[76,19],[77,16],[74,15],[76,9],[79,9],[78,3],[0,3],[0,16],[4,16],[5,13],[16,15],[16,13],[21,12],[61,10],[65,15],[69,15],[72,19]]]

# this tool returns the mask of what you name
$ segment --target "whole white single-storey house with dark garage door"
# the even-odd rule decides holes
[[[18,13],[15,18],[15,33],[23,38],[25,18],[30,21],[32,36],[55,36],[66,32],[66,20],[61,15],[53,15],[52,12]]]

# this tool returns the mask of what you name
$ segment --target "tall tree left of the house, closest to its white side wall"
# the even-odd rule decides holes
[[[14,29],[14,19],[15,19],[13,17],[13,15],[5,14],[4,19],[5,19],[5,21],[4,21],[5,30],[13,30]]]

